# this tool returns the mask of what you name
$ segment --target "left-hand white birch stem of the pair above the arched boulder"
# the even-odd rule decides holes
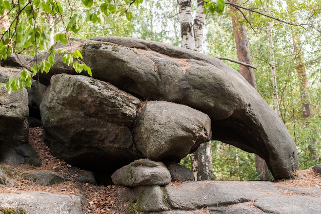
[[[178,0],[182,47],[195,50],[191,0]]]

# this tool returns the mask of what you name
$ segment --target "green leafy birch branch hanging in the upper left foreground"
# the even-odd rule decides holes
[[[133,13],[129,11],[131,5],[138,6],[143,0],[107,0],[100,4],[94,2],[93,0],[82,0],[82,3],[87,8],[91,8],[94,5],[99,5],[100,11],[91,13],[90,10],[87,12],[86,21],[91,21],[93,23],[100,22],[100,18],[97,16],[100,12],[104,13],[106,16],[111,14],[116,14],[121,16],[126,14],[128,21],[132,20]],[[59,20],[63,23],[63,32],[57,33],[54,36],[55,42],[61,42],[66,45],[68,43],[69,32],[78,33],[81,30],[81,25],[79,24],[79,17],[81,14],[73,14],[72,10],[68,23],[65,25],[63,17],[65,16],[65,11],[62,7],[61,2],[57,0],[20,0],[18,2],[14,1],[3,1],[0,0],[0,16],[5,14],[5,11],[9,11],[8,14],[11,15],[11,23],[9,29],[0,29],[0,60],[6,60],[15,49],[21,48],[21,50],[31,49],[35,53],[38,50],[45,50],[49,41],[49,30],[48,26],[43,23],[38,23],[38,21],[44,22],[46,16],[44,14],[55,16],[59,14]],[[79,50],[70,51],[67,50],[54,50],[54,45],[48,50],[49,55],[46,60],[36,63],[30,68],[30,72],[23,69],[19,77],[10,77],[6,83],[7,90],[11,91],[23,90],[24,87],[31,87],[31,79],[33,76],[37,75],[38,72],[50,71],[50,68],[55,63],[56,53],[63,54],[62,61],[66,65],[71,65],[77,73],[86,71],[88,75],[92,76],[92,71],[83,62],[83,55]],[[0,83],[0,87],[2,87]]]

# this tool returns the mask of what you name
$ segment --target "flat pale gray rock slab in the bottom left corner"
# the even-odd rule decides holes
[[[46,192],[0,194],[0,207],[23,209],[28,214],[82,214],[78,196]]]

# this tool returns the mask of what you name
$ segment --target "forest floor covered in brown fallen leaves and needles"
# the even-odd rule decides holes
[[[121,214],[128,212],[128,200],[132,196],[132,192],[129,188],[115,185],[98,186],[75,181],[66,181],[52,186],[41,186],[30,180],[25,180],[23,174],[26,172],[51,171],[64,178],[72,179],[78,176],[77,173],[82,171],[81,169],[67,164],[63,160],[53,157],[50,153],[50,149],[42,140],[42,131],[42,127],[29,129],[29,143],[34,147],[39,158],[42,159],[42,166],[33,167],[25,164],[2,164],[2,166],[5,166],[7,169],[7,176],[13,179],[16,185],[14,187],[2,187],[0,188],[0,193],[42,191],[55,194],[83,195],[85,196],[85,199],[82,200],[83,214]],[[321,178],[320,174],[312,169],[298,170],[293,173],[293,179],[276,181],[274,182],[274,185],[319,189],[321,187]],[[289,195],[296,194],[291,191],[283,193]]]

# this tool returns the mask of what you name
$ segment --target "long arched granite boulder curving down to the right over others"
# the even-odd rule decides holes
[[[215,57],[132,38],[96,37],[70,45],[82,51],[95,79],[139,99],[184,104],[208,114],[213,140],[258,154],[275,179],[288,178],[298,167],[295,143],[282,120],[242,75]],[[75,73],[61,55],[55,62],[48,74],[39,74],[42,83],[49,84],[56,73]]]

